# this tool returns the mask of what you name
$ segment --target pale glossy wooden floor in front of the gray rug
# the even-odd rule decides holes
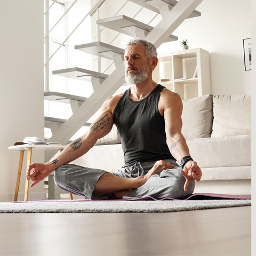
[[[173,213],[3,213],[0,255],[251,255],[251,207]]]

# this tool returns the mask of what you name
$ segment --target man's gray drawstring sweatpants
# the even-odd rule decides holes
[[[128,197],[139,198],[152,196],[156,199],[163,197],[185,198],[193,193],[195,181],[189,183],[185,192],[183,186],[185,178],[180,174],[182,168],[173,159],[164,159],[165,162],[174,165],[174,168],[162,171],[159,175],[151,176],[148,181],[137,189],[131,189]],[[121,167],[113,175],[124,178],[136,178],[147,174],[154,162],[137,162],[127,167]],[[93,195],[93,190],[99,178],[106,173],[105,170],[92,169],[74,164],[65,164],[55,170],[54,181],[56,185],[68,193],[84,196],[90,199],[114,199],[113,194],[103,196]]]

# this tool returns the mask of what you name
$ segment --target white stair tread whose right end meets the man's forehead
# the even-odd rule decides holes
[[[102,42],[75,45],[75,50],[91,53],[110,60],[113,59],[113,54],[124,55],[124,49]]]

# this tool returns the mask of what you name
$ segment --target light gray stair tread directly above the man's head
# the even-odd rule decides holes
[[[118,15],[115,17],[100,19],[97,20],[97,24],[132,37],[136,37],[134,30],[144,31],[146,34],[148,34],[154,28],[125,15]],[[170,41],[175,41],[177,39],[178,38],[176,36],[170,36]]]

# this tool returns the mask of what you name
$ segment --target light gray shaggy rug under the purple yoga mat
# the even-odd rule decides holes
[[[250,199],[189,201],[31,201],[1,202],[0,213],[178,212],[249,205],[251,205]]]

